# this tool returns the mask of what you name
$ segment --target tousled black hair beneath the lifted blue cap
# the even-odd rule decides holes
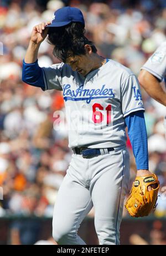
[[[63,27],[49,27],[48,42],[55,46],[53,55],[63,62],[71,56],[85,55],[85,45],[90,45],[92,52],[97,52],[94,43],[85,37],[85,28],[80,22],[71,22]]]

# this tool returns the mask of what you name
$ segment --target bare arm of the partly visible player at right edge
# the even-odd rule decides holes
[[[157,77],[147,70],[141,70],[138,80],[140,85],[154,100],[166,106],[166,92],[163,90]]]

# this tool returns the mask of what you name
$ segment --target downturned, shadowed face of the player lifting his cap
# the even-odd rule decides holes
[[[79,72],[82,76],[86,76],[92,69],[87,55],[68,57],[66,64],[70,65],[73,71]]]

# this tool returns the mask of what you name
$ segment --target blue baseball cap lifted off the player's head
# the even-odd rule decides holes
[[[71,22],[81,22],[85,26],[84,17],[80,9],[68,6],[56,10],[51,24],[46,27],[62,27]]]

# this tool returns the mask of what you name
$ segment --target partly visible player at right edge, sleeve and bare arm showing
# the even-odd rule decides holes
[[[141,68],[139,83],[154,100],[166,106],[166,91],[161,82],[166,82],[166,41],[164,41]],[[166,85],[166,83],[165,83]],[[166,116],[164,119],[166,137]]]

